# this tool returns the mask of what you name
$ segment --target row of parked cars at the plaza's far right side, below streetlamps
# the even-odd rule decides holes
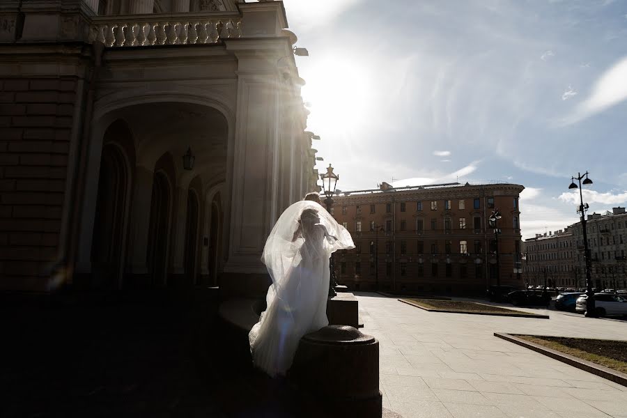
[[[527,288],[516,290],[511,286],[490,286],[488,299],[490,301],[510,302],[516,306],[543,306],[549,307],[552,295],[559,294],[555,298],[555,309],[560,311],[573,311],[583,314],[586,311],[587,295],[585,289],[557,289]],[[598,316],[627,316],[627,291],[605,289],[597,292],[593,289],[595,309]]]

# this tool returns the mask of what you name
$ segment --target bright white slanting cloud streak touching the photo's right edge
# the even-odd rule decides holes
[[[577,123],[626,99],[627,57],[624,57],[599,77],[589,97],[579,104],[574,114],[564,118],[559,124]]]

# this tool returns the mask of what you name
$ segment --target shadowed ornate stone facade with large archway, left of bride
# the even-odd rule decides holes
[[[0,0],[0,290],[264,293],[317,187],[287,27],[280,1]]]

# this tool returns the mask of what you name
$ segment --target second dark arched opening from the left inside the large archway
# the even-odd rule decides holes
[[[150,199],[146,260],[152,286],[163,286],[167,280],[171,195],[167,176],[163,171],[157,171],[153,178],[153,192]]]

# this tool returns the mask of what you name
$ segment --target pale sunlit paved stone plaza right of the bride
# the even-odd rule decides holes
[[[428,312],[357,293],[380,342],[383,406],[404,418],[627,418],[627,387],[493,336],[627,340],[627,323],[543,309],[550,319]]]

